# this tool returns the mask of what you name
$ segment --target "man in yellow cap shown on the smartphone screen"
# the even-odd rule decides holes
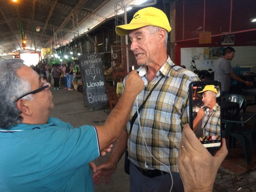
[[[214,85],[206,85],[202,91],[197,92],[202,97],[203,108],[197,112],[193,121],[193,130],[196,131],[202,120],[202,137],[220,135],[220,106],[216,102],[217,89]]]

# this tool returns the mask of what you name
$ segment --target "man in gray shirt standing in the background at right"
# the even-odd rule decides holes
[[[231,67],[230,61],[235,57],[235,49],[232,47],[226,47],[223,50],[222,56],[217,60],[214,66],[214,80],[221,83],[221,95],[227,95],[230,87],[230,78],[240,81],[246,85],[253,85],[250,81],[245,81],[235,75]]]

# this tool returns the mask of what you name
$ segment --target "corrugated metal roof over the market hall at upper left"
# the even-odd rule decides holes
[[[115,2],[121,1],[124,6],[135,2]],[[86,33],[115,16],[114,4],[114,0],[1,0],[0,54],[22,49],[21,29],[27,49],[40,51],[65,45],[74,34]],[[116,9],[120,7],[116,4]]]

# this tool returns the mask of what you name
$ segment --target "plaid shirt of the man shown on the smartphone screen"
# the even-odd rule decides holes
[[[203,136],[220,135],[220,123],[220,106],[216,103],[212,108],[212,112],[206,111],[203,117],[202,128],[205,125]]]

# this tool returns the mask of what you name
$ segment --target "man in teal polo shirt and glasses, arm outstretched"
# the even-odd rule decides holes
[[[74,128],[50,117],[51,85],[23,60],[0,61],[0,71],[0,191],[94,191],[88,164],[121,134],[144,85],[137,72],[103,126]]]

